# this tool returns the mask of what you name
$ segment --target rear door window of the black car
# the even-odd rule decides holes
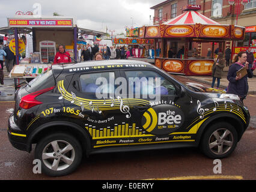
[[[79,79],[82,92],[107,94],[114,94],[114,80],[114,72],[82,74]]]

